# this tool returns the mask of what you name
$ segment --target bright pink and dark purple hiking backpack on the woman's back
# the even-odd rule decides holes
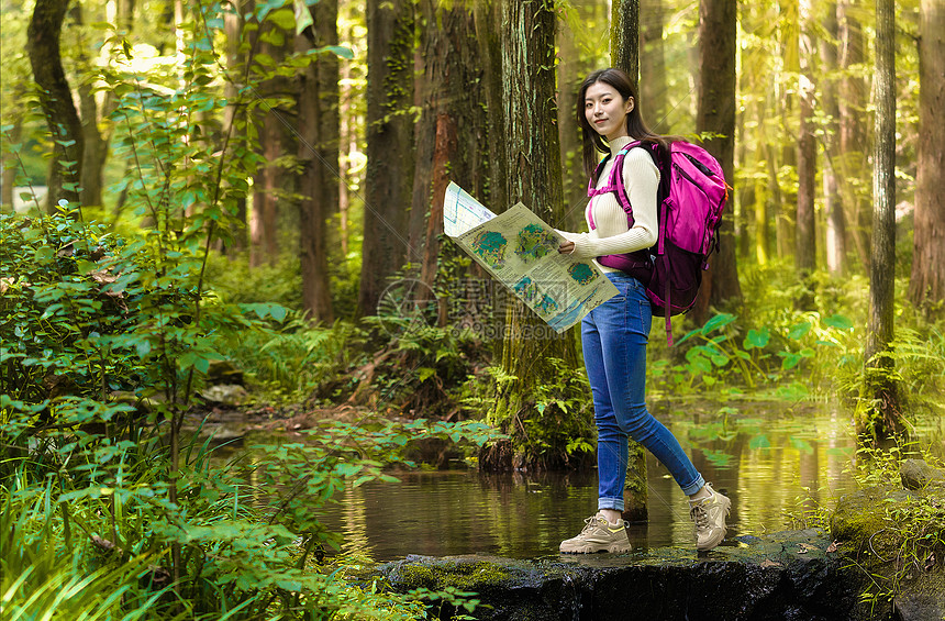
[[[598,257],[598,263],[631,274],[646,270],[646,295],[656,317],[666,318],[666,340],[672,345],[670,317],[687,312],[696,304],[702,271],[709,256],[719,249],[715,232],[729,199],[729,185],[722,166],[701,146],[677,141],[669,153],[656,143],[633,142],[618,152],[607,186],[597,189],[597,179],[607,158],[598,165],[588,184],[588,196],[615,192],[633,226],[633,207],[623,186],[623,158],[634,147],[646,148],[659,168],[656,245],[648,251]],[[608,156],[609,157],[609,156]],[[594,228],[591,215],[591,229]]]

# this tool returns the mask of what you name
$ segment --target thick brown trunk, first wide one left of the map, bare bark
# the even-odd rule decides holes
[[[367,1],[367,179],[357,314],[374,314],[408,246],[413,190],[412,0]]]

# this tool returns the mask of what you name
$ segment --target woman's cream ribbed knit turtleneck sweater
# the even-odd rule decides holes
[[[631,142],[633,138],[620,137],[610,143],[611,158],[601,171],[598,188],[607,185],[616,153]],[[589,215],[593,213],[597,229],[590,233],[558,231],[566,240],[575,243],[575,249],[570,256],[591,258],[632,253],[648,248],[656,243],[656,193],[659,188],[659,169],[645,149],[632,148],[624,157],[623,184],[630,204],[633,207],[633,228],[627,229],[626,213],[613,192],[598,195],[591,198],[585,212],[588,228],[590,228]],[[602,265],[599,267],[604,271],[618,271]]]

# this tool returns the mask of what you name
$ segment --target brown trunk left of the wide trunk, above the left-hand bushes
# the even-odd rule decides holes
[[[337,45],[337,0],[310,9],[313,24],[297,37],[300,51]],[[338,209],[338,60],[322,53],[299,75],[298,85],[299,254],[302,307],[331,323],[329,219]]]

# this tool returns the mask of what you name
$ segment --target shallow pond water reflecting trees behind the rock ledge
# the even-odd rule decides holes
[[[849,414],[827,404],[685,402],[654,411],[715,489],[732,499],[732,537],[801,528],[805,512],[856,487]],[[942,422],[921,431],[937,437]],[[470,469],[407,472],[400,483],[349,487],[321,510],[344,536],[343,552],[391,561],[408,554],[557,555],[597,509],[597,473],[485,475]],[[649,520],[632,524],[635,548],[692,546],[688,503],[664,468],[647,459]]]

